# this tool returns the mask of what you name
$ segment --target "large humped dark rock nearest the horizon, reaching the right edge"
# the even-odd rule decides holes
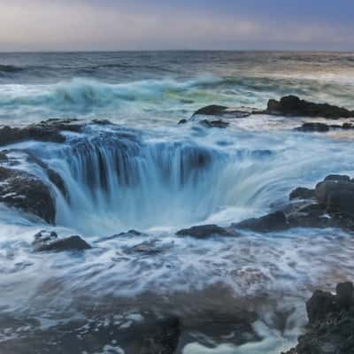
[[[269,100],[266,113],[299,117],[323,117],[328,119],[354,117],[354,112],[345,108],[331,104],[315,104],[301,100],[297,96],[284,96],[280,101]]]

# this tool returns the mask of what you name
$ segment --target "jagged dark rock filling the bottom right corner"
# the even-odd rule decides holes
[[[309,325],[288,354],[352,354],[354,297],[351,282],[338,284],[336,295],[316,291],[307,302]]]

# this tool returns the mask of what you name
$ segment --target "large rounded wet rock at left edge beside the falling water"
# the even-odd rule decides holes
[[[35,175],[0,166],[0,202],[54,223],[56,204],[50,187]]]

